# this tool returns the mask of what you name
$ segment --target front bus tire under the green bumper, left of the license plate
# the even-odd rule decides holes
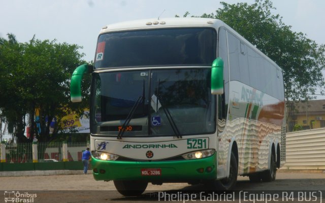
[[[139,196],[147,188],[145,181],[113,181],[116,190],[124,196]]]

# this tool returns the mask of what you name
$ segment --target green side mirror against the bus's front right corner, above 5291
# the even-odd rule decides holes
[[[223,60],[220,57],[212,62],[211,94],[223,94]]]

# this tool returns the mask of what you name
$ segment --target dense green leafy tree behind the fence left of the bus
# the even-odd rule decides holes
[[[7,118],[8,131],[18,142],[28,142],[24,129],[28,121],[30,133],[36,133],[39,141],[55,139],[62,129],[61,118],[67,111],[81,114],[88,107],[87,97],[83,103],[70,102],[70,78],[74,69],[85,63],[78,45],[57,43],[55,40],[41,41],[35,36],[28,43],[18,43],[15,36],[0,39],[0,108]],[[89,77],[83,95],[89,95]],[[80,106],[79,106],[80,105]],[[35,122],[35,111],[39,109],[40,120]],[[26,121],[27,115],[27,121]],[[50,133],[48,121],[56,118],[57,125]],[[39,127],[37,126],[39,125]],[[40,131],[38,130],[40,128]]]

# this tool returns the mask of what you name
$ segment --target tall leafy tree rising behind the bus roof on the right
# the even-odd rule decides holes
[[[291,31],[280,15],[273,14],[275,8],[269,0],[221,5],[215,13],[191,17],[222,20],[275,61],[283,71],[287,100],[310,99],[317,88],[324,93],[321,71],[325,67],[325,45],[317,45],[302,32]],[[184,17],[188,15],[186,12]]]

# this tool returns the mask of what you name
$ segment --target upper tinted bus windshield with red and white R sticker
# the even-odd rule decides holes
[[[216,35],[212,28],[103,33],[94,67],[211,65],[216,57]]]

